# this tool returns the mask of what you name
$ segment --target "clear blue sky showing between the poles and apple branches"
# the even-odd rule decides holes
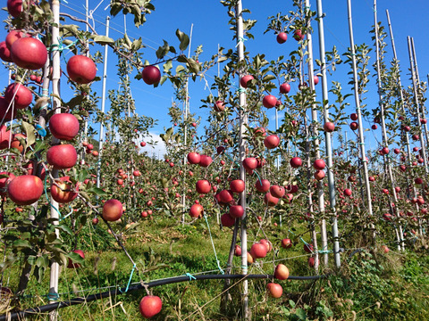
[[[310,1],[312,9],[315,10],[315,0]],[[62,11],[75,14],[80,19],[84,19],[82,15],[84,13],[85,1],[69,1],[62,3]],[[93,17],[95,18],[95,28],[99,34],[105,33],[105,17],[108,14],[108,9],[105,10],[107,1],[100,2],[89,1],[89,8],[95,10]],[[149,62],[156,60],[155,50],[163,43],[163,39],[167,40],[172,45],[178,45],[175,37],[175,30],[181,29],[182,31],[189,34],[190,26],[193,24],[193,35],[191,49],[195,50],[198,45],[203,45],[204,53],[200,56],[200,61],[209,59],[212,54],[216,53],[217,46],[221,45],[225,48],[231,48],[235,46],[232,41],[232,33],[229,30],[227,24],[229,17],[226,14],[226,8],[217,0],[181,0],[181,1],[161,1],[153,0],[153,4],[156,6],[156,11],[147,16],[147,23],[136,29],[132,25],[132,21],[129,20],[124,23],[122,16],[117,16],[111,21],[111,37],[119,37],[120,32],[127,29],[130,37],[142,37],[143,42],[148,46],[144,51],[144,59]],[[412,4],[412,5],[411,5]],[[324,12],[326,17],[325,23],[325,41],[326,49],[330,50],[333,45],[336,45],[339,53],[344,53],[349,46],[349,30],[348,30],[348,17],[347,17],[347,1],[339,0],[325,0],[324,1]],[[389,9],[391,14],[391,22],[395,41],[397,45],[397,52],[400,59],[400,65],[402,69],[402,81],[404,85],[410,85],[408,80],[408,47],[407,47],[407,36],[414,37],[416,45],[416,55],[418,60],[418,67],[421,78],[426,80],[425,75],[428,72],[428,64],[425,62],[426,55],[426,30],[428,29],[429,21],[427,20],[427,12],[429,10],[429,4],[427,1],[415,0],[415,1],[398,1],[398,0],[383,0],[378,1],[378,20],[382,21],[383,25],[387,29],[387,19],[385,10]],[[251,13],[245,16],[246,19],[257,20],[257,26],[253,29],[252,33],[255,39],[246,41],[246,49],[251,56],[257,53],[265,53],[268,60],[276,59],[279,55],[287,56],[291,50],[297,47],[297,42],[291,37],[288,41],[279,45],[275,41],[273,33],[263,34],[267,25],[267,17],[275,15],[277,12],[287,13],[292,9],[291,1],[264,1],[259,0],[244,0],[243,7],[248,8]],[[353,27],[355,33],[355,43],[362,44],[366,43],[371,45],[371,36],[369,30],[374,25],[374,12],[373,12],[373,1],[370,0],[353,0]],[[3,12],[3,17],[6,17],[6,12]],[[70,22],[70,21],[69,21]],[[318,58],[318,46],[317,46],[317,27],[316,22],[313,25],[315,29],[315,58]],[[82,27],[83,28],[83,27]],[[5,31],[0,33],[0,37],[5,37]],[[387,57],[391,58],[391,46],[390,38],[386,39],[388,42],[388,53]],[[98,48],[102,50],[102,48]],[[70,56],[71,53],[66,53],[66,57]],[[374,53],[372,53],[374,57]],[[373,61],[374,62],[374,61]],[[114,66],[114,54],[109,51],[108,59],[108,78],[107,87],[117,88],[118,79],[116,77],[116,70]],[[98,76],[102,75],[103,66],[98,66]],[[347,85],[349,81],[347,72],[348,68],[341,68],[333,74],[331,80],[340,81],[343,84],[344,94],[351,93],[351,87]],[[214,76],[217,70],[214,69],[208,72],[209,76]],[[6,78],[4,77],[7,73],[1,72],[2,81],[4,86],[7,85]],[[131,77],[133,77],[132,75]],[[65,85],[65,84],[64,84]],[[101,82],[94,85],[97,93],[101,95]],[[292,86],[292,91],[297,88]],[[316,88],[320,91],[320,86]],[[376,104],[376,84],[374,78],[371,79],[371,83],[368,86],[371,94],[368,95],[368,104]],[[139,114],[145,114],[147,116],[158,119],[158,126],[153,129],[153,132],[160,134],[163,132],[164,127],[169,127],[169,118],[167,111],[172,102],[172,87],[168,82],[165,82],[164,86],[153,88],[147,86],[143,81],[134,80],[131,84],[131,90],[133,98],[136,100],[137,112]],[[197,80],[195,84],[189,86],[190,96],[190,111],[197,113],[202,119],[206,118],[206,110],[199,109],[200,99],[208,95],[208,91],[205,89],[205,83]],[[320,94],[318,92],[318,94]],[[67,94],[65,94],[67,95]],[[353,99],[349,99],[350,111],[353,112]],[[272,115],[270,114],[272,113]],[[270,118],[273,117],[274,111],[268,111]],[[273,124],[270,126],[273,129]]]

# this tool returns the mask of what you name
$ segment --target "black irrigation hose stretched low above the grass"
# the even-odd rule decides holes
[[[248,279],[268,279],[273,276],[268,275],[202,275],[202,276],[176,276],[170,277],[162,280],[152,281],[147,284],[135,284],[130,285],[127,292],[137,291],[145,289],[146,287],[154,287],[164,284],[175,284],[186,281],[197,281],[197,280],[215,280],[215,279],[240,279],[240,278],[248,278]],[[318,280],[320,278],[324,278],[325,276],[289,276],[289,280]],[[66,307],[71,307],[73,305],[82,304],[86,302],[90,302],[93,300],[100,300],[104,298],[108,298],[110,296],[120,295],[126,291],[126,287],[112,289],[107,292],[101,292],[97,294],[88,295],[86,298],[75,298],[71,300],[58,301],[55,303],[46,304],[44,306],[40,306],[37,308],[25,309],[18,312],[6,313],[0,316],[0,321],[6,320],[21,320],[23,317],[34,316],[38,313],[46,313],[50,311],[54,311],[55,309],[62,309]]]

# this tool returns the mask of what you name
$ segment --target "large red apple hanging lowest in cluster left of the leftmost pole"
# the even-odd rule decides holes
[[[42,193],[43,182],[34,175],[15,177],[7,185],[9,198],[17,205],[29,205],[37,202]]]

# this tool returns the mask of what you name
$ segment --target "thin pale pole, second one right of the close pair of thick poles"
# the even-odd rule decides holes
[[[387,131],[386,131],[386,123],[384,119],[384,103],[383,103],[383,87],[382,87],[382,75],[380,70],[380,44],[379,44],[379,36],[378,36],[378,19],[377,19],[377,0],[374,0],[374,35],[375,35],[375,59],[376,59],[376,70],[377,70],[377,86],[378,86],[378,99],[380,104],[380,119],[382,122],[382,136],[383,136],[383,144],[384,147],[389,147],[389,142],[387,138]],[[396,205],[398,204],[398,195],[395,190],[395,184],[393,180],[393,174],[391,172],[391,161],[389,160],[389,157],[387,155],[384,155],[384,163],[387,168],[387,174],[389,176],[389,180],[391,183],[391,190],[393,193],[393,200],[394,200],[394,206],[389,204],[391,208],[391,212],[394,215],[396,212],[397,217],[400,217],[399,210],[396,208]],[[404,243],[402,241],[402,226],[400,225],[400,231],[398,232],[398,228],[396,225],[394,226],[395,234],[397,237],[397,246],[398,251],[404,248]]]

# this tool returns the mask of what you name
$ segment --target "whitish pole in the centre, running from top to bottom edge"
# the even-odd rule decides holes
[[[237,53],[239,56],[239,63],[244,61],[244,29],[243,29],[243,8],[241,4],[241,0],[237,1],[236,7],[235,7],[235,14],[236,14],[236,22],[237,22]],[[239,76],[240,79],[244,76],[242,71],[239,70]],[[241,83],[239,81],[239,83]],[[240,118],[240,179],[242,179],[245,182],[246,185],[246,170],[243,167],[243,161],[246,157],[246,140],[244,138],[245,132],[246,132],[246,125],[248,123],[248,118],[246,116],[246,113],[244,112],[244,109],[246,108],[246,91],[240,84],[240,97],[239,97],[239,103],[240,103],[240,111],[239,111],[239,118]],[[241,231],[240,231],[240,238],[241,238],[241,274],[247,275],[248,274],[248,230],[247,230],[247,222],[248,222],[248,215],[246,210],[246,193],[247,193],[247,187],[243,192],[240,193],[240,205],[244,209],[244,214],[240,218],[241,221]],[[242,303],[243,303],[243,316],[242,318],[244,320],[250,319],[250,310],[248,308],[248,280],[245,279],[243,281],[243,287],[242,287]]]

